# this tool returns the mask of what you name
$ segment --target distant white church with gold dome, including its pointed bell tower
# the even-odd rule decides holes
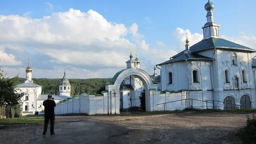
[[[26,93],[22,98],[23,101],[23,115],[32,115],[35,114],[35,111],[43,111],[44,106],[43,101],[47,99],[48,94],[41,94],[42,86],[36,85],[32,80],[32,68],[29,66],[26,67],[26,80],[20,85],[16,85],[18,92]],[[71,85],[66,78],[66,72],[61,79],[59,85],[59,95],[53,95],[54,101],[59,102],[62,99],[69,98],[71,96]]]

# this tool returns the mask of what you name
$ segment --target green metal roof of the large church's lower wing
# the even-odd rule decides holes
[[[179,56],[173,58],[173,59],[170,59],[170,60],[167,60],[161,64],[158,64],[158,65],[164,65],[164,64],[168,64],[168,63],[173,63],[173,62],[177,62],[177,61],[184,61],[186,59],[190,59],[190,60],[193,60],[193,59],[200,59],[200,60],[213,60],[212,58],[209,58],[209,57],[205,57],[205,56],[202,56],[202,55],[199,55],[199,54],[196,54],[196,53],[184,53],[184,52],[180,52],[179,53]]]

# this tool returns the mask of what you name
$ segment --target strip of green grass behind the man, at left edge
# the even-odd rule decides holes
[[[1,118],[0,125],[4,124],[35,124],[44,123],[44,116],[26,116],[20,118]]]

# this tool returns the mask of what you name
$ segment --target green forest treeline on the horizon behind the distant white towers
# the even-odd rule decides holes
[[[19,84],[23,83],[25,78],[19,78]],[[83,93],[100,93],[105,90],[105,84],[111,81],[111,78],[96,78],[96,79],[68,79],[71,85],[71,95],[76,95],[78,92]],[[59,94],[59,85],[61,79],[33,79],[33,83],[41,85],[41,94]]]

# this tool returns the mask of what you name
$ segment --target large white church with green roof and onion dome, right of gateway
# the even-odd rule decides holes
[[[204,6],[203,39],[190,46],[187,38],[184,51],[157,65],[161,90],[186,90],[187,99],[214,100],[220,109],[256,107],[256,50],[219,38],[214,7],[210,0]]]

